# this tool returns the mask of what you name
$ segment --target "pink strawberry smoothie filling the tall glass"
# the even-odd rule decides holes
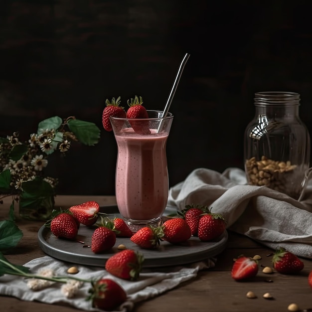
[[[116,135],[116,200],[125,219],[159,218],[168,197],[168,133],[139,135],[129,128]]]

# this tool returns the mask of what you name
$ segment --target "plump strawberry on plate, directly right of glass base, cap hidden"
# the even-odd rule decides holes
[[[162,224],[163,240],[171,243],[183,243],[191,237],[191,229],[182,218],[173,218]]]

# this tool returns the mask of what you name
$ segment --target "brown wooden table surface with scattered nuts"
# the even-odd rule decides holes
[[[56,207],[68,207],[87,200],[95,200],[102,205],[116,204],[114,196],[57,196]],[[0,220],[7,218],[9,201],[0,205]],[[44,256],[37,242],[37,232],[42,222],[18,220],[23,238],[18,246],[6,255],[14,264],[24,264],[31,259]],[[136,304],[136,312],[159,311],[237,311],[237,312],[283,312],[296,303],[301,311],[312,311],[312,289],[308,285],[308,274],[312,270],[312,260],[302,259],[305,268],[298,275],[271,275],[262,273],[262,266],[271,266],[273,250],[259,245],[245,236],[229,232],[226,249],[217,257],[216,266],[201,271],[197,277],[184,282],[175,289],[156,298]],[[260,255],[259,273],[255,280],[236,282],[231,278],[233,259],[244,254]],[[271,282],[269,282],[271,280]],[[247,299],[246,293],[253,291],[258,297]],[[273,300],[263,298],[270,293]],[[38,302],[24,302],[16,298],[0,296],[1,309],[9,312],[74,312],[77,309],[65,306],[47,305]]]

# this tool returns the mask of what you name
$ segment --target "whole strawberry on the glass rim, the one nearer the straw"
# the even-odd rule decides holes
[[[146,108],[142,105],[143,100],[142,97],[136,95],[134,99],[127,101],[129,105],[129,109],[127,111],[127,118],[129,119],[147,119],[149,118],[149,114]],[[131,127],[138,134],[150,134],[151,130],[149,127],[148,121],[131,121]]]

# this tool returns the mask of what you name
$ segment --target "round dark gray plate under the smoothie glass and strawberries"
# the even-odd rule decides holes
[[[101,212],[109,213],[111,217],[120,217],[117,211],[117,206],[101,207]],[[214,257],[223,251],[228,238],[227,231],[224,231],[213,241],[202,242],[198,237],[191,237],[185,243],[176,245],[161,241],[157,249],[149,250],[140,248],[130,238],[118,237],[111,250],[103,254],[95,254],[90,247],[86,247],[91,245],[91,236],[95,229],[95,226],[80,225],[77,241],[71,241],[55,237],[48,228],[42,226],[38,232],[39,246],[47,255],[62,261],[103,267],[106,260],[119,251],[117,246],[124,244],[128,249],[139,251],[144,255],[144,267],[162,267],[182,265]]]

